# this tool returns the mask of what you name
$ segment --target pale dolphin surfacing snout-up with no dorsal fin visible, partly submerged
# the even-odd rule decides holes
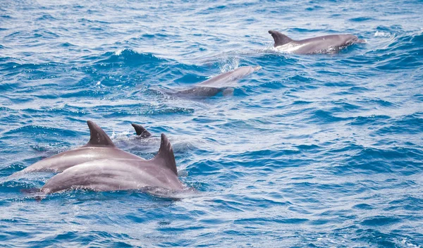
[[[235,70],[221,73],[208,80],[198,83],[190,89],[181,90],[178,92],[171,93],[177,97],[193,97],[193,98],[205,98],[213,97],[216,94],[223,93],[223,95],[231,94],[233,89],[228,87],[231,82],[236,82],[240,78],[249,75],[257,70],[260,70],[261,66],[242,66]]]

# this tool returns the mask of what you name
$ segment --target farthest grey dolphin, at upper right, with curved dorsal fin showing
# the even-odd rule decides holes
[[[355,35],[324,35],[309,39],[293,40],[281,32],[269,30],[274,38],[274,47],[293,54],[326,54],[339,51],[355,43],[365,43]]]

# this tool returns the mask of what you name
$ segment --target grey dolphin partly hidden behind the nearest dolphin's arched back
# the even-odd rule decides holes
[[[38,161],[22,171],[13,173],[11,178],[37,171],[61,172],[79,163],[97,159],[121,158],[145,160],[140,156],[130,154],[115,147],[110,137],[106,135],[106,132],[91,120],[88,120],[87,124],[90,128],[90,141],[87,144]]]

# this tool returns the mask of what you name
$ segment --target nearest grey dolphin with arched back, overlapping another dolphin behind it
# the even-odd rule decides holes
[[[161,134],[160,149],[153,159],[102,159],[81,163],[48,180],[41,192],[143,190],[151,187],[186,189],[178,179],[173,149],[164,134]]]

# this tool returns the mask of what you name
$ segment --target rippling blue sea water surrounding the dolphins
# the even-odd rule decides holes
[[[422,247],[422,1],[0,1],[1,247]],[[282,54],[350,33],[338,54]],[[180,99],[239,66],[233,96]],[[200,193],[8,180],[85,144],[94,120],[150,159],[164,132]]]

